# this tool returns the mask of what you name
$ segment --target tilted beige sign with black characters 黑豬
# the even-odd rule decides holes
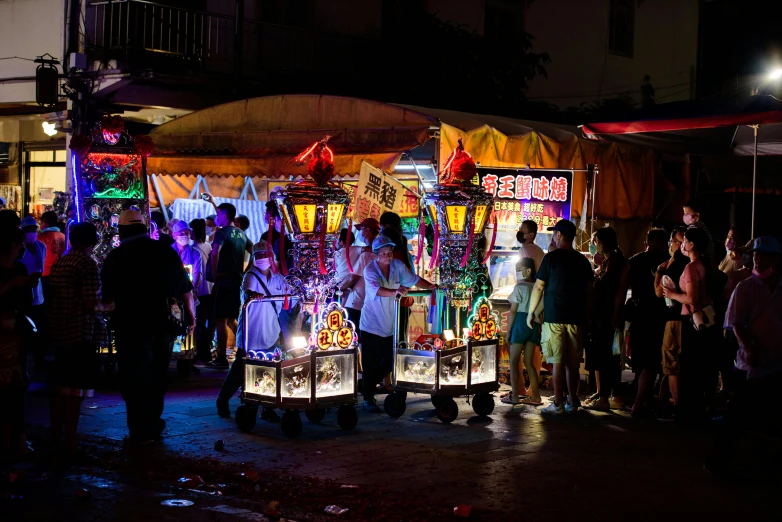
[[[411,205],[411,199],[415,201]],[[401,217],[418,215],[418,197],[399,180],[361,162],[358,184],[353,192],[349,215],[358,223],[366,218],[380,219],[383,212],[396,212]],[[415,208],[412,214],[411,208]]]

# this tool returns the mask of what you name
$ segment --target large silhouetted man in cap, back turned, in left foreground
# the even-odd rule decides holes
[[[195,325],[193,285],[170,246],[147,236],[138,210],[119,218],[120,246],[101,270],[103,300],[114,302],[119,380],[128,413],[129,441],[146,444],[165,429],[166,373],[171,358],[170,300],[184,302],[188,333]]]

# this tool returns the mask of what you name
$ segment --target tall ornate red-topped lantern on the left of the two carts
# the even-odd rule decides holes
[[[306,162],[309,179],[292,183],[275,193],[286,233],[293,243],[293,266],[283,266],[294,293],[310,311],[334,291],[334,243],[348,208],[348,193],[331,183],[334,153],[326,144],[329,136],[294,158]],[[284,265],[284,255],[280,255]]]

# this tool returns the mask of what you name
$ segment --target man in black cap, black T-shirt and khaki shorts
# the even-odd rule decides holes
[[[556,250],[546,254],[540,263],[529,309],[535,310],[543,299],[545,319],[540,344],[546,360],[554,366],[554,400],[542,411],[562,414],[575,412],[579,407],[578,368],[589,321],[594,276],[586,257],[573,249],[576,226],[563,219],[548,230],[554,232]],[[532,321],[533,314],[529,314],[527,325],[530,328]],[[558,404],[566,387],[568,400]]]

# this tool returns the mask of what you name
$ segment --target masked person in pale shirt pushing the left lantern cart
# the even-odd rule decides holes
[[[242,302],[263,296],[280,296],[289,294],[291,289],[281,274],[271,270],[274,260],[271,248],[264,240],[253,245],[252,266],[245,272],[242,280]],[[293,304],[293,303],[291,303]],[[242,385],[244,379],[244,358],[248,350],[269,351],[276,346],[284,346],[289,332],[282,329],[279,312],[282,302],[262,302],[248,308],[242,307],[239,315],[239,326],[236,331],[236,359],[231,370],[223,381],[220,394],[217,397],[217,414],[220,417],[230,417],[231,410],[228,401]],[[248,315],[245,317],[245,313]],[[261,419],[279,422],[280,418],[273,409],[264,408]]]

